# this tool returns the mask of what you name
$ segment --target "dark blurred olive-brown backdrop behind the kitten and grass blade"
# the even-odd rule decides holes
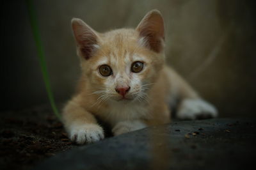
[[[166,24],[166,56],[221,117],[255,117],[255,1],[35,1],[52,91],[74,93],[79,59],[70,28],[79,17],[99,32],[136,27],[152,9]],[[1,111],[49,104],[25,1],[1,2]]]

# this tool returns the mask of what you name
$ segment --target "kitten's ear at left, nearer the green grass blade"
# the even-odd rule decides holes
[[[93,52],[99,47],[99,45],[97,45],[99,36],[96,31],[85,24],[81,19],[72,19],[71,24],[77,43],[77,55],[84,59],[91,58]]]

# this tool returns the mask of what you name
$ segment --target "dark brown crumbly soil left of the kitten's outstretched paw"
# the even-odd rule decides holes
[[[49,106],[0,115],[1,169],[31,169],[57,152],[77,147]]]

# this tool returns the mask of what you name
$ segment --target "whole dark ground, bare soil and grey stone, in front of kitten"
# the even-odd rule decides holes
[[[77,147],[49,107],[0,118],[1,169],[150,169],[162,152],[168,169],[234,170],[250,169],[256,155],[255,119],[174,121]]]

